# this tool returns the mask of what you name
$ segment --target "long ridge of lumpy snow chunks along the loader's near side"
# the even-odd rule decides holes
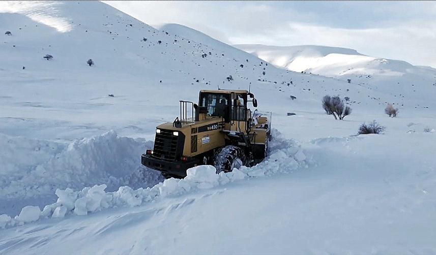
[[[197,166],[187,170],[184,179],[166,179],[153,187],[132,189],[121,186],[115,192],[105,192],[106,184],[85,187],[75,192],[71,188],[56,189],[57,201],[46,205],[42,212],[38,207],[24,207],[20,215],[11,218],[0,215],[0,228],[22,225],[39,218],[62,218],[68,214],[87,215],[107,208],[139,206],[169,196],[178,196],[195,190],[213,188],[250,177],[269,176],[275,173],[292,172],[306,166],[302,149],[292,140],[285,140],[273,131],[270,156],[252,168],[243,167],[232,172],[216,174],[213,166]]]

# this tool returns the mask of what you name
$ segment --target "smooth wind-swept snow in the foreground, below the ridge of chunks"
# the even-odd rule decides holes
[[[414,134],[413,140],[422,144],[429,135]],[[405,137],[398,150],[371,149],[396,139],[391,135],[317,139],[303,148],[307,168],[306,163],[292,167],[284,146],[256,167],[279,170],[274,175],[218,185],[221,176],[207,176],[204,171],[196,185],[208,186],[188,193],[186,187],[192,186],[179,183],[193,183],[195,178],[169,179],[159,185],[166,197],[153,203],[3,230],[0,250],[434,253],[432,146],[418,151],[404,143],[410,140]],[[389,160],[402,157],[409,158],[408,163]],[[423,163],[420,168],[415,167],[418,162]]]

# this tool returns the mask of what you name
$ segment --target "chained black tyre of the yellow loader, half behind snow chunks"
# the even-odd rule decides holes
[[[217,173],[231,172],[247,164],[244,150],[234,145],[222,147],[215,154],[214,165]]]

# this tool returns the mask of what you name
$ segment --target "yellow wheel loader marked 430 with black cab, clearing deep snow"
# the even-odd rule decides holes
[[[154,148],[142,154],[142,165],[165,178],[183,178],[199,165],[219,173],[259,163],[271,139],[271,113],[252,112],[248,103],[257,107],[249,91],[223,89],[201,90],[198,104],[180,101],[180,116],[156,127]]]

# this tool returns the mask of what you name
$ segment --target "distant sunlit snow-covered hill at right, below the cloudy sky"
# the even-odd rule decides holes
[[[431,100],[436,87],[436,69],[410,63],[366,56],[356,50],[327,46],[235,45],[276,67],[306,72],[367,85],[397,97],[416,94]],[[430,97],[428,97],[430,95]]]

